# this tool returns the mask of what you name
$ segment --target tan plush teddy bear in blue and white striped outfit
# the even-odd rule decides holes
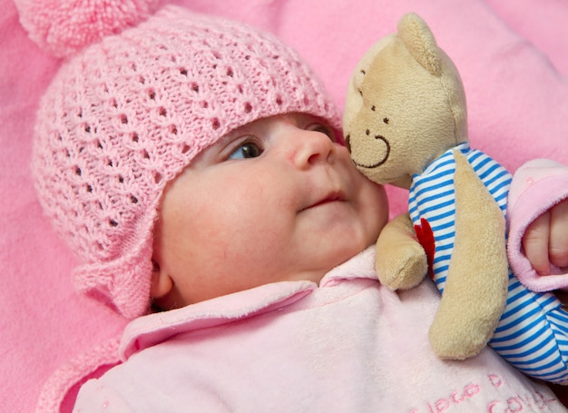
[[[553,294],[526,290],[508,266],[511,174],[470,147],[462,80],[418,15],[404,15],[357,63],[343,128],[360,172],[409,191],[408,212],[378,237],[377,276],[392,290],[426,274],[435,281],[442,295],[428,336],[436,355],[466,359],[488,343],[531,376],[560,377],[544,371],[552,359],[565,373],[568,324],[551,313],[568,313]]]

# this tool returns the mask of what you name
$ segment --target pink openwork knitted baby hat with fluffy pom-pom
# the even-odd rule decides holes
[[[32,167],[44,210],[81,261],[76,288],[134,318],[149,307],[163,189],[195,155],[274,114],[339,121],[308,66],[273,36],[171,5],[152,15],[150,0],[100,1],[20,6],[30,36],[67,56],[40,104]]]

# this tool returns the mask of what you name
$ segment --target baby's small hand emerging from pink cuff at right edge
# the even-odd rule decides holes
[[[568,267],[568,199],[544,212],[526,229],[524,255],[538,275],[549,275],[550,264]]]

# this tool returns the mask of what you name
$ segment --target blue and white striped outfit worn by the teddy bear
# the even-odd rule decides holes
[[[470,149],[468,143],[454,149],[465,154],[505,214],[511,174],[484,152]],[[441,292],[455,241],[454,174],[455,159],[450,150],[425,172],[413,176],[408,200],[413,223],[419,224],[421,218],[426,218],[434,232],[434,280]],[[568,312],[553,294],[524,288],[510,270],[504,313],[489,345],[527,375],[555,383],[568,382]]]

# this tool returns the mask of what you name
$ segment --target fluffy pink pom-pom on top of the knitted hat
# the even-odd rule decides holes
[[[30,38],[57,57],[66,57],[108,34],[137,25],[160,0],[15,0]]]

